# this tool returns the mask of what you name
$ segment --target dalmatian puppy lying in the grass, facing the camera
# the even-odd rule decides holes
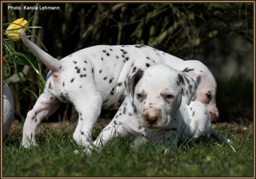
[[[129,97],[94,141],[96,149],[112,138],[132,138],[135,146],[153,141],[166,150],[209,134],[230,142],[212,129],[205,105],[191,101],[197,84],[184,73],[160,63],[131,74],[125,86]]]

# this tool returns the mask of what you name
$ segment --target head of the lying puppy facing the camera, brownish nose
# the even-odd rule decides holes
[[[125,80],[125,87],[138,124],[160,129],[170,124],[181,105],[182,96],[190,104],[197,85],[184,73],[157,64],[132,73]]]

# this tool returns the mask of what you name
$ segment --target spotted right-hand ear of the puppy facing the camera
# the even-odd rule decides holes
[[[178,79],[179,82],[182,84],[182,95],[186,99],[186,104],[190,105],[190,102],[193,99],[194,94],[197,90],[197,82],[194,81],[190,76],[182,72],[178,74]],[[196,80],[200,80],[200,78]]]

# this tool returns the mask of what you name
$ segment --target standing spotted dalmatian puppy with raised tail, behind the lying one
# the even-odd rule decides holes
[[[73,138],[78,145],[90,144],[93,127],[102,109],[118,109],[127,92],[124,81],[139,68],[165,63],[184,71],[198,82],[194,100],[202,101],[209,114],[218,117],[215,103],[216,81],[203,63],[183,61],[178,57],[144,45],[94,46],[79,50],[62,60],[54,59],[27,39],[21,30],[23,43],[50,69],[44,92],[28,112],[23,126],[21,145],[37,146],[36,127],[50,116],[61,102],[71,103],[78,113]],[[179,65],[178,65],[179,64]]]

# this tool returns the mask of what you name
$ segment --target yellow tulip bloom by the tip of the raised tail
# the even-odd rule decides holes
[[[20,24],[20,25],[18,25]],[[21,25],[28,27],[28,22],[26,20],[24,20],[24,18],[19,18],[16,21],[14,21],[13,23],[11,23],[8,28],[6,29],[7,32],[5,33],[5,35],[7,35],[8,38],[15,38],[15,37],[20,37],[21,34]],[[17,29],[17,30],[14,30]],[[26,28],[23,28],[24,31],[26,31]],[[19,39],[13,39],[12,41],[17,41]]]

